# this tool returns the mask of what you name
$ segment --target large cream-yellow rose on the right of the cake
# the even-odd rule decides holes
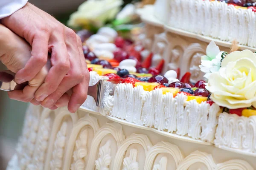
[[[218,72],[209,75],[211,99],[229,108],[256,107],[256,54],[250,50],[235,51],[221,62]]]

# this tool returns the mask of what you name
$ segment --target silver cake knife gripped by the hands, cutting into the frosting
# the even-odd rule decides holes
[[[22,90],[28,82],[17,84],[14,81],[15,73],[9,70],[0,71],[0,90],[13,91]],[[116,85],[123,79],[100,79],[95,85],[88,87],[88,95],[92,96],[96,102],[96,106],[104,107],[104,98],[114,94]]]

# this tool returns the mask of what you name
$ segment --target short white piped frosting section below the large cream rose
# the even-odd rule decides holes
[[[218,124],[215,146],[256,153],[256,116],[221,113]]]

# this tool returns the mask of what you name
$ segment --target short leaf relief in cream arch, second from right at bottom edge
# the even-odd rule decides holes
[[[129,157],[126,157],[123,161],[122,170],[139,170],[139,164],[137,160],[137,149],[131,149]]]

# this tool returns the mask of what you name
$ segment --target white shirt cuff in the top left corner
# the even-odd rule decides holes
[[[0,19],[15,13],[27,2],[28,0],[0,0]]]

